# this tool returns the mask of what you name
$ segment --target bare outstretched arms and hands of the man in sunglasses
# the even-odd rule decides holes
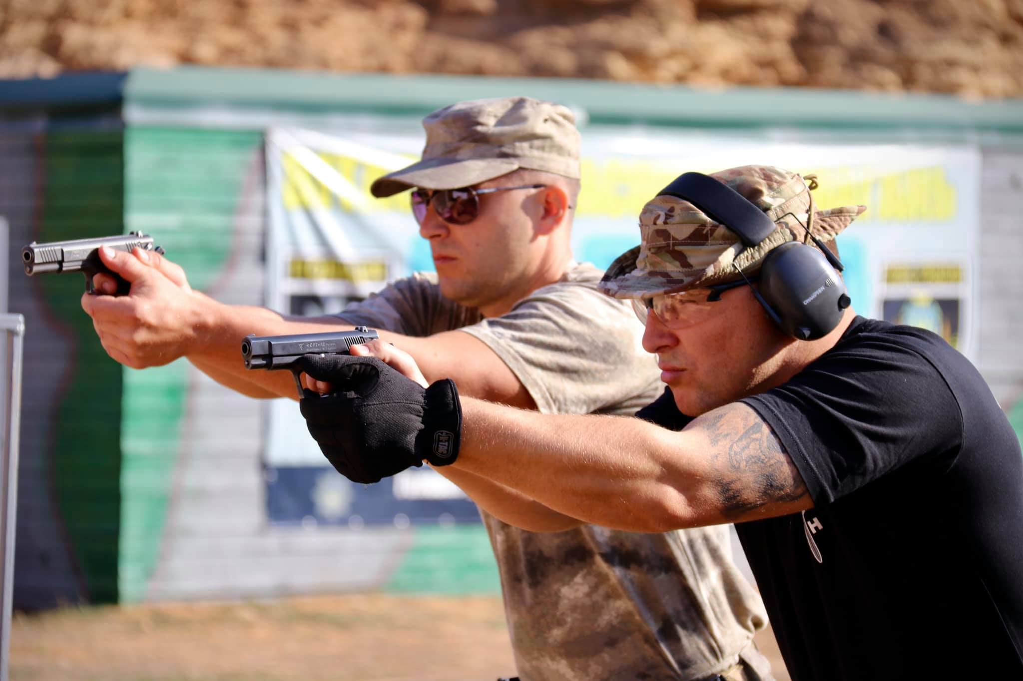
[[[286,371],[249,371],[241,339],[351,330],[337,317],[290,317],[266,308],[224,305],[188,287],[184,272],[166,258],[135,249],[100,251],[104,264],[131,283],[128,296],[82,297],[82,308],[107,354],[126,366],[160,366],[187,357],[215,380],[251,397],[296,398]],[[104,290],[105,275],[95,284]],[[380,330],[381,338],[416,359],[431,380],[451,377],[464,395],[518,407],[535,406],[518,376],[482,340],[461,331],[412,337]]]

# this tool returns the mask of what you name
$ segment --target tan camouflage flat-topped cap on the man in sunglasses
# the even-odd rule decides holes
[[[457,189],[520,168],[579,178],[579,131],[562,104],[530,97],[460,101],[425,118],[422,127],[421,161],[377,178],[373,196]]]

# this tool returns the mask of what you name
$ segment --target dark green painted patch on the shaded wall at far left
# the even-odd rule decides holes
[[[50,132],[37,240],[120,234],[121,131]],[[50,311],[74,337],[76,356],[54,423],[54,494],[91,602],[118,600],[121,524],[121,367],[82,314],[83,276],[40,277]],[[31,342],[31,340],[30,340]]]

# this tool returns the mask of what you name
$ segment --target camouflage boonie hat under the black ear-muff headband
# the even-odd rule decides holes
[[[619,256],[599,289],[613,298],[653,298],[725,283],[760,271],[771,249],[787,241],[809,242],[807,227],[831,241],[866,210],[865,206],[817,211],[810,196],[815,177],[803,178],[771,166],[743,166],[711,174],[758,206],[777,226],[763,241],[745,247],[739,234],[707,217],[693,203],[659,195],[639,214],[640,244]],[[812,213],[812,221],[809,219]],[[804,227],[803,225],[806,225]]]

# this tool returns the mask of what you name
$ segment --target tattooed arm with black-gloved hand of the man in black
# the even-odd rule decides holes
[[[456,484],[475,482],[462,475],[469,473],[493,485],[485,492],[516,493],[504,494],[500,503],[508,508],[494,514],[526,529],[533,526],[514,513],[542,509],[543,515],[528,521],[557,529],[571,527],[575,518],[665,532],[784,515],[813,505],[773,430],[742,403],[708,412],[677,432],[633,417],[539,414],[458,399],[446,381],[428,388],[411,357],[379,340],[355,353],[374,357],[313,367],[317,377],[340,381],[354,397],[324,403],[326,411],[319,406],[310,414],[303,410],[317,428],[327,424],[320,447],[345,469],[368,465],[382,471],[379,478],[393,474],[387,464],[405,457],[427,460]],[[339,442],[330,432],[338,422],[359,423],[361,439]],[[396,445],[396,429],[414,442]],[[458,443],[453,460],[447,448],[436,449],[437,442]]]

